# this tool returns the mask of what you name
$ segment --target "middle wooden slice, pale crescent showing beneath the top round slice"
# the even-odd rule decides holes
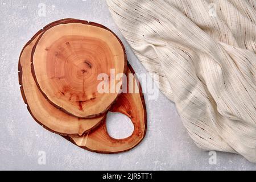
[[[59,24],[70,19],[59,20],[49,24]],[[48,28],[45,27],[46,29]],[[42,35],[44,30],[40,30],[33,38],[24,46],[19,58],[19,84],[23,100],[27,104],[27,109],[32,117],[40,125],[43,125],[49,131],[66,134],[82,135],[98,126],[104,121],[105,115],[92,119],[79,119],[64,113],[56,107],[49,104],[39,91],[31,73],[31,51],[36,40]]]

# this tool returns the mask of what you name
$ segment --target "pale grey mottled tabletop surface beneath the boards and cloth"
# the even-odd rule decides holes
[[[46,5],[46,16],[39,16],[39,3]],[[62,18],[104,24],[125,44],[135,71],[144,73],[145,70],[113,22],[104,0],[1,0],[0,15],[0,169],[256,169],[256,164],[247,162],[242,156],[223,152],[217,152],[217,163],[210,165],[209,152],[201,151],[192,142],[174,103],[162,93],[156,100],[148,100],[146,94],[147,135],[139,146],[129,152],[94,154],[43,129],[32,119],[20,96],[17,65],[24,44],[46,24]],[[124,134],[131,132],[131,125],[126,120],[121,114],[110,114],[109,133],[124,137]],[[45,165],[38,164],[39,151],[46,152]]]

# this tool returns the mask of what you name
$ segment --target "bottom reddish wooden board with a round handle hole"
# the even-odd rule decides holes
[[[127,73],[134,73],[133,68],[128,65]],[[135,86],[139,86],[138,80]],[[86,150],[98,153],[113,154],[131,150],[137,146],[146,134],[146,106],[144,97],[139,86],[139,93],[122,93],[110,111],[127,115],[134,125],[133,134],[124,139],[114,139],[109,136],[106,129],[106,122],[98,126],[97,129],[84,134],[82,137],[68,135],[64,138],[70,140],[77,146]]]

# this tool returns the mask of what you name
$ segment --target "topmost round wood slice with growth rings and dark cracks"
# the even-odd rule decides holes
[[[43,96],[58,109],[79,118],[105,113],[118,96],[99,93],[100,73],[126,73],[125,49],[101,24],[68,20],[45,28],[32,50],[31,70]],[[115,90],[119,81],[109,84]]]

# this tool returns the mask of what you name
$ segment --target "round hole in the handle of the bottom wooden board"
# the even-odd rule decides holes
[[[115,139],[130,137],[134,130],[134,125],[129,117],[112,112],[107,114],[106,127],[110,137]]]

